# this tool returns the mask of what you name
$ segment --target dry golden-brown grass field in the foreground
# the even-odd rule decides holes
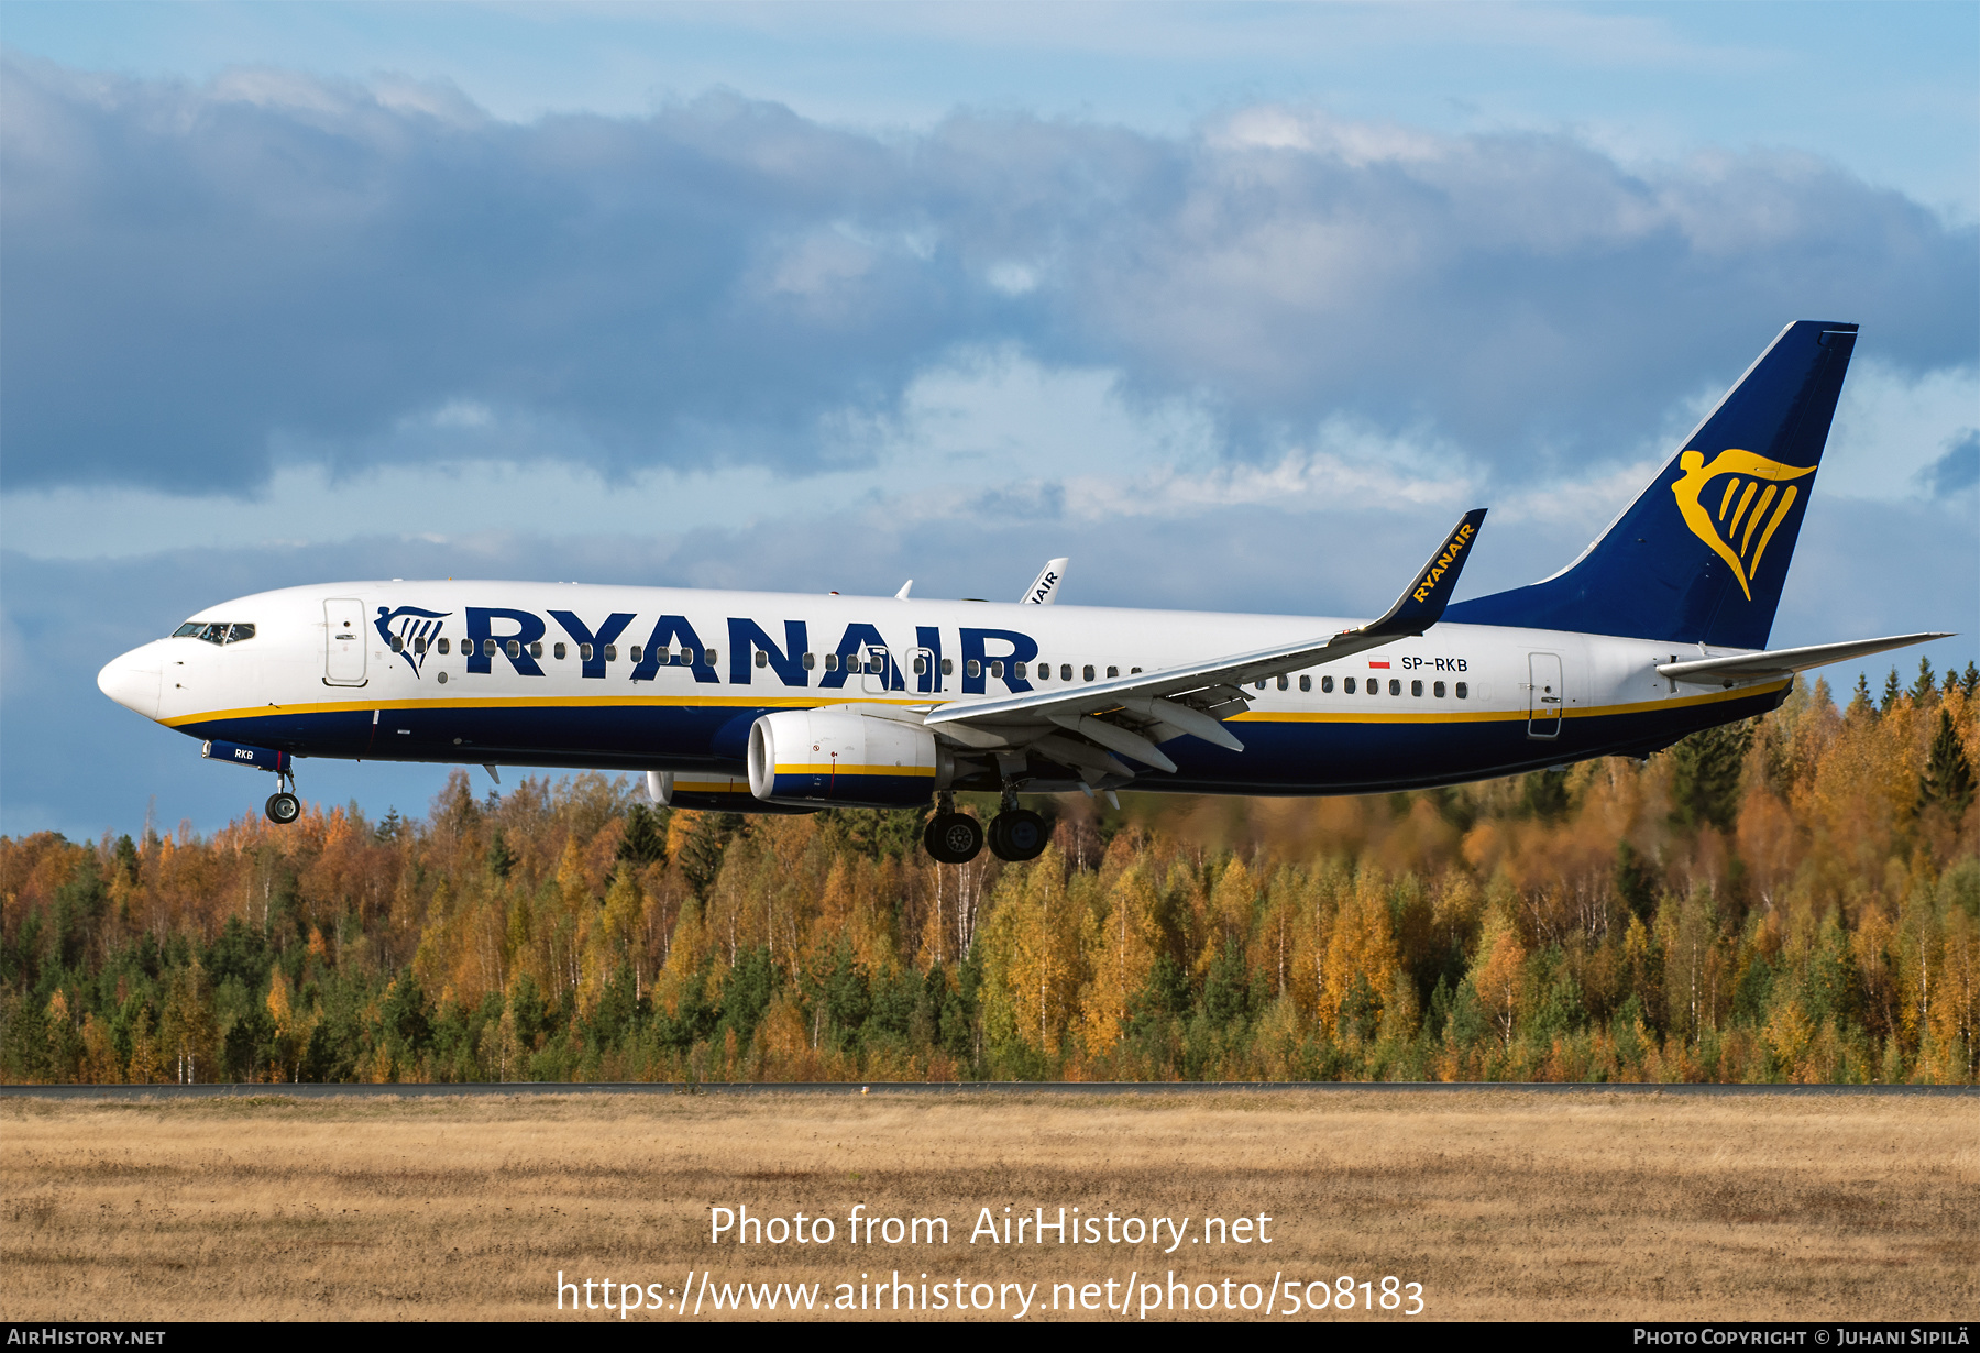
[[[1220,1307],[1226,1280],[1257,1303],[1277,1274],[1281,1317],[1289,1282],[1394,1274],[1432,1319],[1948,1319],[1980,1309],[1976,1185],[1974,1099],[6,1099],[0,1315],[558,1319],[562,1270],[653,1284],[663,1309],[632,1317],[679,1319],[669,1288],[693,1270],[703,1317],[733,1317],[711,1303],[725,1284],[768,1280],[824,1284],[818,1319],[836,1284],[899,1270],[917,1301],[921,1274],[978,1305],[974,1284],[1038,1284],[1022,1319],[1067,1317],[1053,1284],[1113,1280],[1119,1301],[1138,1272],[1133,1317],[1174,1270]],[[836,1218],[836,1238],[711,1246],[709,1208],[737,1204]],[[853,1204],[946,1216],[950,1244],[853,1248]],[[984,1206],[1172,1216],[1184,1242],[1164,1254],[1164,1224],[1160,1244],[970,1244]],[[1198,1234],[1259,1212],[1269,1246]],[[966,1317],[1018,1319],[1016,1292]],[[620,1317],[568,1301],[562,1319]]]

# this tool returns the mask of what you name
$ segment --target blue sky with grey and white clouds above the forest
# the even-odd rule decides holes
[[[14,0],[0,48],[10,834],[249,808],[93,674],[265,586],[1069,553],[1356,614],[1473,503],[1467,590],[1527,582],[1798,317],[1865,333],[1774,640],[1980,654],[1970,4]]]

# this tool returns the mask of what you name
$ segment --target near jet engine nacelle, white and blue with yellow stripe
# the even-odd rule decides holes
[[[784,709],[748,731],[748,788],[764,802],[911,808],[954,781],[954,761],[913,715],[887,705]]]

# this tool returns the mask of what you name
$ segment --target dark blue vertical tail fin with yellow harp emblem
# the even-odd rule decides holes
[[[1855,335],[1814,319],[1782,329],[1580,559],[1443,618],[1766,648]]]

